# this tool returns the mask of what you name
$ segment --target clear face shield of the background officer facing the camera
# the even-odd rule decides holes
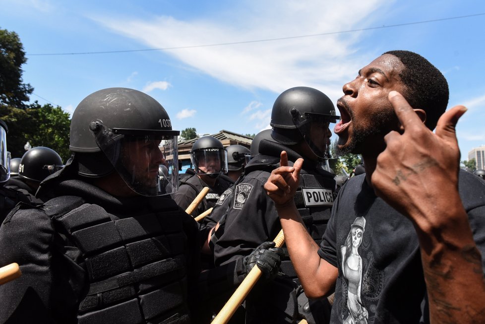
[[[227,151],[223,148],[204,148],[190,153],[190,160],[198,174],[217,178],[227,173]]]

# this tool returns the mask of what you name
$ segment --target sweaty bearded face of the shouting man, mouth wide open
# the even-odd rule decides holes
[[[364,66],[355,80],[343,86],[338,102],[342,120],[335,126],[342,153],[363,153],[383,145],[383,137],[397,128],[398,120],[387,99],[391,90],[405,92],[399,73],[404,65],[385,54]]]

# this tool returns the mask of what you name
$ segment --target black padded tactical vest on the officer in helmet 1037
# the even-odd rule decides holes
[[[87,295],[79,324],[190,323],[179,208],[120,218],[80,197],[45,206],[56,229],[79,248]]]

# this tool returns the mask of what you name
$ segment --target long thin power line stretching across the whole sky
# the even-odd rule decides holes
[[[378,26],[378,27],[368,27],[368,28],[361,28],[361,29],[350,29],[350,30],[343,30],[343,31],[336,31],[336,32],[327,32],[327,33],[309,34],[309,35],[300,35],[300,36],[288,36],[288,37],[279,37],[279,38],[267,38],[267,39],[258,39],[258,40],[241,41],[241,42],[230,42],[230,43],[217,43],[217,44],[205,44],[205,45],[191,45],[191,46],[179,46],[179,47],[165,47],[165,48],[144,49],[144,50],[121,50],[121,51],[78,52],[78,53],[27,54],[27,56],[88,55],[88,54],[112,54],[112,53],[128,53],[128,52],[168,51],[168,50],[181,50],[181,49],[189,49],[189,48],[197,48],[197,47],[213,47],[213,46],[226,46],[226,45],[236,45],[236,44],[261,43],[261,42],[281,41],[281,40],[286,40],[286,39],[315,37],[315,36],[325,36],[325,35],[335,35],[335,34],[353,33],[353,32],[358,32],[358,31],[366,31],[366,30],[375,30],[375,29],[383,29],[383,28],[391,28],[391,27],[401,27],[401,26],[425,24],[425,23],[430,23],[430,22],[437,22],[437,21],[444,21],[444,20],[452,20],[452,19],[461,19],[461,18],[469,18],[469,17],[483,16],[483,15],[485,15],[485,12],[484,13],[470,14],[470,15],[466,15],[466,16],[456,16],[456,17],[448,17],[448,18],[440,18],[440,19],[432,19],[432,20],[423,20],[423,21],[407,22],[407,23],[387,25],[387,26],[386,25],[382,25],[382,26]]]

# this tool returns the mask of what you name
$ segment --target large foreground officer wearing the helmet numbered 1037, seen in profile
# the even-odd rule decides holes
[[[152,97],[108,88],[83,99],[72,157],[44,181],[45,204],[0,228],[0,323],[189,323],[199,232],[166,194],[177,189],[177,135]],[[170,186],[160,184],[164,149]]]

